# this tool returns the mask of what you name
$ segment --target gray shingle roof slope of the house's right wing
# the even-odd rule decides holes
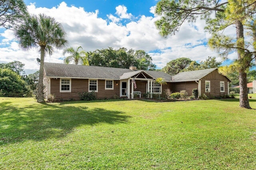
[[[195,70],[195,71],[187,71],[187,72],[180,72],[174,76],[172,76],[174,82],[186,82],[186,81],[196,81],[200,80],[210,72],[213,72],[218,68],[208,68],[204,70]]]

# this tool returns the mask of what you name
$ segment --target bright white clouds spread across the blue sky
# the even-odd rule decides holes
[[[150,8],[154,12],[154,8]],[[125,6],[117,6],[118,17],[108,14],[104,20],[98,16],[99,11],[86,12],[84,8],[67,6],[62,2],[53,8],[36,8],[35,4],[28,6],[31,14],[44,13],[54,17],[62,23],[67,32],[69,46],[74,48],[82,46],[85,51],[94,51],[113,47],[126,47],[127,49],[144,50],[153,59],[153,63],[162,68],[172,59],[188,57],[192,60],[202,61],[208,56],[216,56],[206,45],[210,35],[204,32],[205,23],[197,20],[193,25],[184,23],[180,31],[173,36],[163,38],[159,35],[154,22],[158,16],[140,16],[136,20],[123,25],[121,19],[132,19]],[[0,63],[18,60],[25,64],[27,74],[39,69],[36,58],[40,58],[38,49],[21,51],[18,44],[13,42],[13,33],[4,31],[0,40]],[[2,48],[1,48],[2,47]],[[232,55],[234,56],[234,55]],[[63,63],[62,50],[56,50],[52,56],[46,56],[45,62]]]

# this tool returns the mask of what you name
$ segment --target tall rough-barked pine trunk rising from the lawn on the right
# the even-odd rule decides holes
[[[237,47],[244,49],[244,26],[241,21],[236,21],[236,39],[237,39]],[[246,65],[247,62],[245,60],[245,52],[242,49],[237,50],[238,61],[242,64],[239,68],[239,86],[240,86],[240,107],[244,107],[246,109],[251,109],[248,93],[247,93],[247,80],[246,80]]]

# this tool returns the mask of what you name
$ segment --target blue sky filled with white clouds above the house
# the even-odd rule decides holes
[[[178,33],[161,37],[154,22],[158,0],[24,0],[30,14],[44,13],[60,22],[67,33],[68,47],[79,46],[85,51],[106,49],[144,50],[152,57],[157,68],[180,57],[204,61],[208,56],[222,61],[212,51],[207,40],[210,34],[204,31],[205,21],[184,23]],[[232,29],[232,28],[231,28]],[[230,30],[228,30],[230,31]],[[233,32],[234,30],[231,30]],[[63,50],[55,50],[45,57],[45,62],[63,63]],[[38,49],[22,51],[13,32],[0,28],[0,63],[20,61],[24,71],[31,74],[39,70],[36,58]],[[236,58],[236,53],[229,56]]]

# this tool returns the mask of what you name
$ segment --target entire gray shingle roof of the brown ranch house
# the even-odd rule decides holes
[[[130,78],[140,72],[146,72],[153,78],[162,77],[166,82],[186,82],[200,80],[210,72],[217,68],[209,68],[205,70],[195,70],[188,72],[180,72],[175,76],[171,76],[162,71],[148,70],[130,70],[126,68],[112,68],[102,66],[82,66],[74,64],[44,63],[44,70],[47,77],[67,77],[67,78],[102,78],[122,80]]]

